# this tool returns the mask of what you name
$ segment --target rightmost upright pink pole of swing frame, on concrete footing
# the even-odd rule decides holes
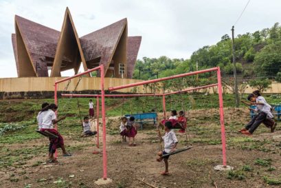
[[[223,112],[223,90],[221,88],[221,70],[218,67],[216,72],[218,77],[218,101],[220,106],[220,121],[221,121],[221,143],[223,147],[223,166],[226,167],[226,143],[225,143],[225,121]]]

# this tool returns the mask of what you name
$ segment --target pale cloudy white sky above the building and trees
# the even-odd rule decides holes
[[[12,50],[14,15],[60,31],[69,7],[78,36],[128,19],[128,36],[142,36],[142,57],[190,58],[204,45],[231,36],[248,0],[0,0],[0,78],[16,77]],[[281,22],[280,0],[251,0],[235,34],[271,28]],[[63,76],[71,76],[65,72]]]

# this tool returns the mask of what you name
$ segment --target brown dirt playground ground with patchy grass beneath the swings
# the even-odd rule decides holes
[[[161,114],[159,114],[161,116]],[[164,163],[156,162],[159,142],[153,125],[145,125],[137,133],[137,146],[122,143],[118,134],[107,134],[106,154],[108,177],[113,180],[108,185],[95,185],[102,178],[101,147],[95,147],[96,138],[65,136],[65,144],[73,149],[71,157],[61,156],[58,164],[45,164],[47,151],[26,160],[21,167],[5,167],[0,171],[0,187],[278,187],[269,185],[268,178],[280,179],[280,136],[278,127],[273,134],[261,125],[254,136],[243,136],[237,130],[249,121],[245,109],[225,109],[227,136],[227,165],[229,171],[215,171],[222,165],[221,134],[217,109],[193,110],[188,112],[188,134],[179,134],[178,148],[192,145],[192,149],[170,156],[169,176],[161,176]],[[111,118],[108,128],[118,129],[117,118]],[[30,140],[26,144],[3,145],[13,149],[46,147],[47,138]],[[12,157],[12,156],[11,156]],[[258,159],[270,159],[271,165],[258,163]],[[36,164],[36,165],[34,165]],[[263,164],[263,165],[262,165]],[[271,168],[271,170],[269,169]],[[55,183],[56,182],[56,183]],[[276,183],[278,184],[278,183]]]

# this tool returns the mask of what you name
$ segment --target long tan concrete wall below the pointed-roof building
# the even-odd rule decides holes
[[[54,91],[54,82],[65,77],[28,77],[28,78],[8,78],[0,79],[0,92],[50,92]],[[67,91],[73,91],[78,83],[79,78],[71,79],[71,83]],[[104,89],[109,87],[125,85],[128,83],[137,83],[140,80],[135,79],[117,79],[104,78]],[[58,84],[58,91],[64,91],[68,81]],[[117,90],[117,92],[131,92],[131,88]],[[77,91],[83,90],[100,90],[100,78],[98,77],[82,77]],[[143,91],[143,87],[139,86],[139,91]]]

